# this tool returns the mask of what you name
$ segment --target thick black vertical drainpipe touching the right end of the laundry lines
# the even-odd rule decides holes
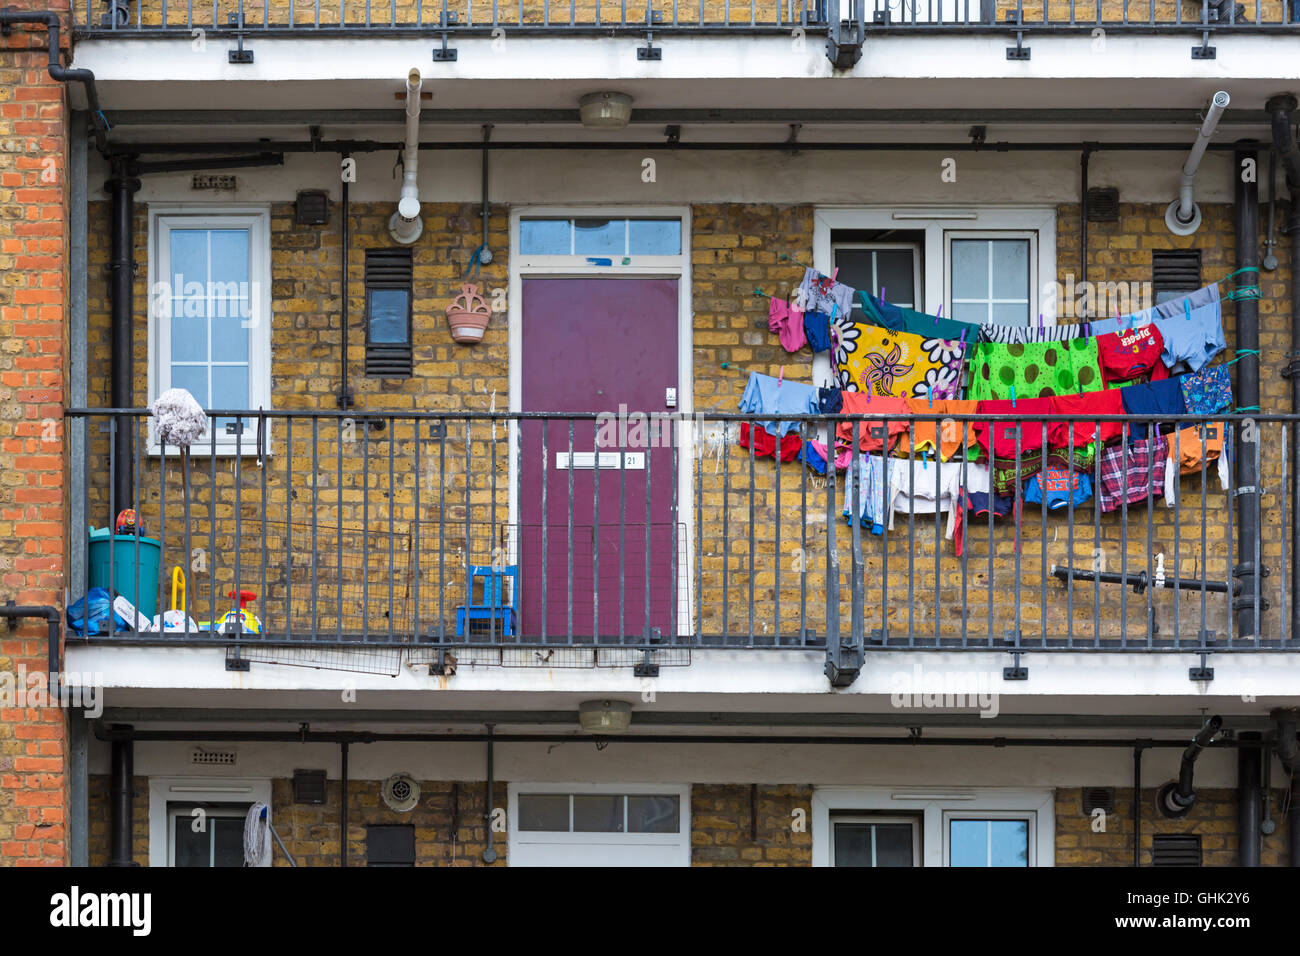
[[[1235,153],[1232,179],[1236,183],[1236,268],[1245,269],[1260,264],[1260,186],[1257,177],[1242,176],[1243,163],[1257,163],[1254,150],[1242,148]],[[1249,182],[1243,179],[1249,178]],[[1248,276],[1244,282],[1256,284],[1258,276]],[[1260,405],[1260,302],[1254,298],[1236,302],[1236,402],[1247,414],[1258,411]],[[1254,350],[1253,354],[1249,350]],[[1249,437],[1252,441],[1245,441]],[[1238,611],[1236,632],[1240,637],[1257,633],[1254,587],[1260,568],[1254,566],[1254,553],[1260,542],[1260,477],[1256,470],[1258,446],[1254,434],[1247,429],[1236,432],[1236,567],[1235,578],[1242,581],[1240,594],[1232,600]],[[1261,597],[1261,607],[1264,601]]]

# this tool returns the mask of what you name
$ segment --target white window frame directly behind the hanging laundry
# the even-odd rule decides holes
[[[1041,312],[1044,325],[1056,325],[1057,297],[1046,293],[1037,278],[1041,277],[1041,284],[1056,287],[1056,208],[1050,206],[818,207],[812,215],[812,265],[823,274],[831,274],[835,268],[831,233],[838,229],[906,229],[924,233],[924,268],[919,286],[924,304],[918,306],[916,311],[933,315],[942,304],[945,316],[953,315],[948,297],[946,233],[1034,233],[1037,237],[1037,255],[1031,256],[1034,278],[1030,286],[1030,315],[1036,319]],[[836,384],[827,352],[812,356],[812,384],[827,388]]]

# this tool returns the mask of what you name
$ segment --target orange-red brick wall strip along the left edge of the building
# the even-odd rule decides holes
[[[0,601],[61,607],[68,137],[47,49],[43,26],[0,38]],[[0,674],[44,672],[46,635],[0,630]],[[0,709],[0,864],[65,860],[65,745],[57,708]]]

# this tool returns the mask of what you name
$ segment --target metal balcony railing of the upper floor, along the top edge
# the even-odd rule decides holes
[[[1295,30],[1300,0],[73,0],[83,36]],[[504,34],[494,31],[506,31]],[[861,44],[861,33],[857,42]],[[447,57],[454,59],[454,57]],[[656,59],[656,57],[647,57]]]

